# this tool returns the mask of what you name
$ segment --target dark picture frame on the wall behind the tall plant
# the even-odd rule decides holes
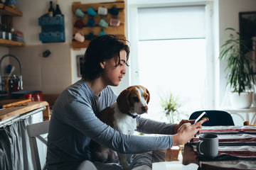
[[[239,30],[240,38],[245,40],[247,47],[252,49],[252,38],[256,38],[256,11],[240,12],[239,13]],[[242,52],[247,53],[245,49]]]

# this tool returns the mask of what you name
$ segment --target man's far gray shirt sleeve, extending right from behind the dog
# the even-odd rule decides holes
[[[164,123],[158,122],[156,120],[146,119],[146,118],[137,118],[139,123],[137,131],[143,132],[146,134],[164,134],[164,135],[173,135],[174,134],[174,123]]]

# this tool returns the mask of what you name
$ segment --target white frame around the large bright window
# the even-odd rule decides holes
[[[194,6],[204,5],[206,6],[206,106],[205,109],[213,109],[218,106],[218,67],[219,62],[216,60],[215,43],[213,38],[213,1],[202,0],[159,0],[159,1],[144,1],[144,0],[127,0],[127,38],[130,42],[131,56],[138,56],[138,44],[139,36],[137,32],[137,13],[138,8],[146,7],[167,7],[167,6]],[[131,57],[129,68],[129,85],[137,84],[139,78],[138,71],[138,58]]]

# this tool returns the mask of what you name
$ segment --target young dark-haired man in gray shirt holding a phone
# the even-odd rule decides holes
[[[53,169],[122,169],[118,164],[90,162],[90,140],[126,154],[145,153],[183,145],[200,130],[203,119],[179,124],[137,118],[139,132],[163,136],[124,135],[97,118],[97,113],[117,99],[110,86],[118,86],[126,74],[129,47],[114,35],[90,42],[85,52],[82,79],[69,86],[55,101],[50,118],[46,162]],[[174,134],[174,135],[171,135]],[[151,154],[132,160],[131,169],[151,169]],[[139,161],[138,161],[139,160]]]

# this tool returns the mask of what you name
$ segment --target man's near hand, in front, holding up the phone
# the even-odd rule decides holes
[[[177,134],[173,136],[174,146],[183,145],[190,141],[196,135],[196,133],[202,128],[202,124],[208,120],[208,118],[203,118],[202,120],[198,121],[193,125],[191,125],[191,122],[183,124],[180,123],[181,127],[178,128]],[[193,121],[194,120],[192,120],[192,123]]]

